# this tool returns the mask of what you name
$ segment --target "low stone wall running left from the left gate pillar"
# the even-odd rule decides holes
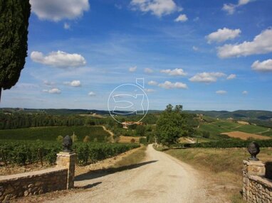
[[[0,202],[16,197],[67,189],[67,168],[49,168],[0,176]]]

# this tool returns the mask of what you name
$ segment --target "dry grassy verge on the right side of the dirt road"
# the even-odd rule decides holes
[[[218,192],[226,192],[231,202],[243,202],[240,194],[243,160],[249,158],[245,148],[164,149],[164,152],[193,165],[209,175],[217,185],[223,185]],[[271,149],[261,148],[258,158],[264,163],[271,160]]]

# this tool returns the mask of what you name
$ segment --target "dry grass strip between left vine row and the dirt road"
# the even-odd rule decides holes
[[[145,150],[147,150],[147,146],[141,146],[139,149],[135,150],[134,153],[123,157],[122,160],[115,163],[111,168],[129,168],[130,165],[135,165],[142,162],[143,160],[145,160]]]

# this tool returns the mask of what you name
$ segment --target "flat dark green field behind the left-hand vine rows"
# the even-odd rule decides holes
[[[73,132],[78,141],[89,136],[90,141],[96,138],[98,142],[104,142],[110,136],[101,126],[56,126],[0,130],[0,140],[56,141],[58,136],[72,136]]]

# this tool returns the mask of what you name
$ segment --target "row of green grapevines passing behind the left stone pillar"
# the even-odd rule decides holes
[[[140,145],[135,143],[75,143],[78,163],[94,163],[124,153]],[[0,162],[5,164],[26,165],[31,163],[56,163],[56,154],[62,150],[61,143],[41,141],[1,141]]]

